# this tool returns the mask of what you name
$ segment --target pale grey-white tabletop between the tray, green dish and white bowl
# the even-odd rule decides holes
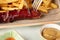
[[[7,30],[16,30],[25,40],[41,40],[40,27],[42,26],[38,25],[38,26],[29,26],[29,27],[0,29],[0,33],[5,32]]]

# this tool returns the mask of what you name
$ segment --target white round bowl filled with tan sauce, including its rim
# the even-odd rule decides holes
[[[43,40],[60,40],[60,26],[57,24],[47,24],[41,27],[40,37]]]

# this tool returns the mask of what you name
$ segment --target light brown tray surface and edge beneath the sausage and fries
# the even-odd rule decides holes
[[[59,5],[58,9],[50,10],[48,14],[40,19],[19,20],[12,23],[1,23],[0,28],[12,28],[60,22],[60,0],[56,0],[56,4]]]

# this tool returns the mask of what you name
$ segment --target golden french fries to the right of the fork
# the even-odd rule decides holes
[[[43,0],[38,10],[44,13],[48,13],[49,10],[58,8],[58,5],[55,4],[53,1],[54,0]]]

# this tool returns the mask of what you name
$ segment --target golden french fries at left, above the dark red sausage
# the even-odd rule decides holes
[[[5,12],[9,10],[19,10],[22,9],[24,5],[24,0],[8,0],[2,1],[0,3],[0,12]]]

